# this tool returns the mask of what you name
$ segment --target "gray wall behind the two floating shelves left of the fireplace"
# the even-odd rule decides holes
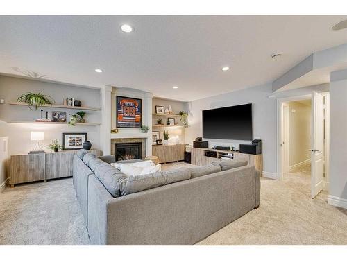
[[[62,85],[57,83],[46,83],[37,80],[28,80],[23,78],[12,78],[8,76],[0,76],[0,99],[5,101],[16,101],[24,92],[42,91],[54,98],[56,104],[62,104],[63,99],[74,97],[80,99],[85,106],[100,107],[101,98],[99,89],[91,89],[84,87],[76,87],[74,85]],[[44,107],[44,111],[66,111],[67,120],[69,114],[76,114],[78,110],[67,110],[65,108]],[[101,123],[100,111],[87,111],[86,119],[88,122]],[[28,153],[33,145],[30,141],[31,131],[44,131],[45,140],[42,144],[45,146],[51,143],[53,139],[58,139],[62,144],[63,132],[87,132],[87,139],[93,144],[93,148],[99,148],[99,126],[94,125],[53,125],[53,124],[24,124],[24,123],[5,123],[10,121],[35,121],[41,116],[40,109],[30,110],[26,106],[0,104],[0,122],[2,135],[9,137],[10,155],[15,153]]]

